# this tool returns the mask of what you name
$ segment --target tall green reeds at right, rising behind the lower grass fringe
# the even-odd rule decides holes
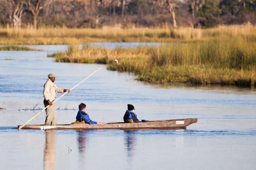
[[[163,46],[151,50],[151,65],[205,65],[248,69],[256,64],[256,42],[240,37],[217,38],[195,44]]]

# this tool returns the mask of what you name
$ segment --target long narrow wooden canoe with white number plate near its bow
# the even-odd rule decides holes
[[[54,126],[45,125],[25,125],[23,129],[184,129],[186,126],[196,123],[197,118],[175,119],[175,120],[157,120],[139,123],[106,123],[97,124],[59,124]],[[18,128],[21,125],[18,125]]]

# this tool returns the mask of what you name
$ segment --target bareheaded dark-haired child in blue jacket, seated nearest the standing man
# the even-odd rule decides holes
[[[81,103],[79,105],[79,111],[76,115],[76,121],[82,122],[84,120],[85,123],[88,123],[88,124],[100,124],[100,125],[104,124],[104,123],[92,121],[89,115],[85,112],[86,112],[86,105],[84,103]]]

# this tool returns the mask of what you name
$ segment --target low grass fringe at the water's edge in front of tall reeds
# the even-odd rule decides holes
[[[142,70],[138,80],[152,83],[191,83],[255,86],[253,70],[216,69],[203,66],[153,67]]]

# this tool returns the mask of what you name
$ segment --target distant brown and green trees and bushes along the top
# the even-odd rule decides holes
[[[0,0],[2,27],[215,27],[256,23],[256,0]]]

